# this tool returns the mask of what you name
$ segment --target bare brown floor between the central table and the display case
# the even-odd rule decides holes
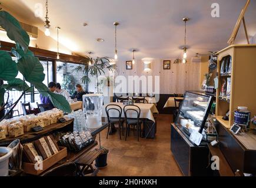
[[[131,132],[125,141],[119,132],[101,132],[101,144],[109,149],[108,166],[98,176],[182,176],[170,150],[171,115],[158,115],[156,139],[140,138]],[[98,136],[97,136],[98,139]]]

